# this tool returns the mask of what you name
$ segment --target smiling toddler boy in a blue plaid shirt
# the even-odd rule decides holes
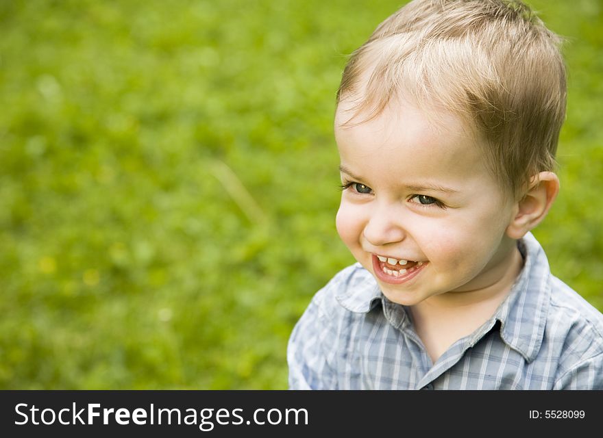
[[[519,1],[415,0],[352,54],[341,239],[291,389],[603,389],[603,315],[530,230],[559,190],[558,37]]]

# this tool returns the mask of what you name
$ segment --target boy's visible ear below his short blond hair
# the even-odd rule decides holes
[[[515,204],[514,216],[506,229],[512,239],[521,239],[545,218],[559,192],[553,172],[540,172],[530,179],[528,192]]]

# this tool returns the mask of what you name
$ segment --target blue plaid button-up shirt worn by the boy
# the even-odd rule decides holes
[[[408,311],[359,263],[310,302],[289,339],[290,389],[603,389],[603,315],[550,272],[531,233],[510,294],[432,363]]]

